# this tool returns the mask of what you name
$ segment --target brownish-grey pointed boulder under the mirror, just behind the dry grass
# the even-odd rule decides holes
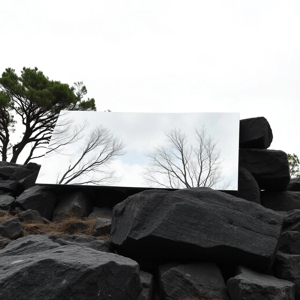
[[[88,217],[92,209],[90,197],[82,190],[65,193],[54,208],[52,220],[60,221],[68,215]]]

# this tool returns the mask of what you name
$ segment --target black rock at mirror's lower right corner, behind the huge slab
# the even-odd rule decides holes
[[[238,190],[224,190],[232,196],[260,204],[260,188],[249,171],[238,168]]]

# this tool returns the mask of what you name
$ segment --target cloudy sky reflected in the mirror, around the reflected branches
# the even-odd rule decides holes
[[[67,120],[67,121],[65,121]],[[67,124],[61,126],[60,124]],[[142,175],[144,168],[149,165],[149,160],[146,154],[154,151],[154,147],[158,145],[166,146],[166,135],[164,132],[168,132],[172,129],[179,129],[182,133],[186,134],[186,145],[184,151],[189,149],[190,145],[193,145],[197,149],[195,128],[201,132],[202,125],[205,125],[207,139],[209,135],[217,142],[217,149],[221,150],[220,167],[223,168],[223,175],[226,179],[232,181],[229,187],[226,189],[232,190],[237,188],[238,181],[238,128],[239,128],[239,114],[238,113],[105,113],[105,112],[80,112],[80,111],[62,111],[58,119],[58,129],[61,134],[57,133],[57,128],[54,131],[54,138],[50,141],[51,144],[55,143],[55,146],[62,144],[61,141],[65,137],[73,132],[78,132],[76,128],[80,128],[86,125],[83,131],[78,135],[80,137],[75,143],[67,144],[59,148],[58,153],[50,152],[44,158],[43,165],[41,167],[37,182],[46,184],[55,184],[57,179],[62,178],[68,168],[75,166],[76,162],[82,156],[83,149],[87,147],[87,141],[90,140],[90,134],[95,133],[95,129],[98,126],[107,128],[111,134],[120,137],[125,145],[126,153],[122,156],[113,156],[113,161],[107,166],[108,170],[116,170],[117,176],[122,176],[121,181],[113,182],[113,186],[119,187],[151,187],[149,182],[145,182]],[[71,125],[71,126],[70,126]],[[75,129],[73,129],[75,128]],[[83,128],[83,127],[82,127]],[[104,130],[101,130],[104,133]],[[68,139],[70,139],[68,138]],[[103,137],[101,138],[103,139]],[[105,139],[106,140],[106,139]],[[100,159],[91,159],[94,155],[99,156],[99,153],[103,150],[104,145],[109,145],[113,138],[109,138],[107,142],[101,143],[99,147],[95,148],[95,151],[85,155],[83,162],[95,162],[101,161],[107,152],[104,153]],[[63,140],[65,144],[65,139]],[[100,138],[99,138],[100,141]],[[93,140],[93,143],[95,140]],[[205,143],[205,140],[203,140]],[[54,147],[55,147],[54,146]],[[53,146],[50,147],[51,149]],[[112,146],[108,147],[109,149]],[[116,146],[114,147],[116,148]],[[172,147],[174,149],[174,147]],[[180,156],[180,153],[174,149],[176,155]],[[54,154],[53,154],[54,153]],[[205,156],[205,151],[202,152],[202,157]],[[161,162],[161,161],[160,161]],[[83,164],[84,164],[83,163]],[[174,163],[182,169],[180,162],[174,161]],[[208,161],[205,161],[205,165]],[[90,163],[88,164],[90,165]],[[70,166],[70,167],[69,167]],[[213,168],[216,165],[211,166]],[[82,170],[75,168],[74,170]],[[106,170],[103,165],[100,167],[101,171]],[[189,170],[192,172],[192,170]],[[73,171],[69,174],[73,174]],[[68,174],[68,175],[69,175]],[[203,174],[208,174],[203,171]],[[202,180],[205,179],[202,174]],[[198,173],[196,177],[198,177]],[[93,179],[102,179],[103,173],[89,172],[88,176],[93,176]],[[158,179],[157,174],[155,178],[161,183],[165,182],[165,178]],[[75,182],[85,182],[82,176],[77,178],[79,181],[72,180],[70,184]],[[64,180],[61,183],[66,183]],[[89,183],[91,184],[91,183]],[[108,185],[107,182],[101,182],[101,185]],[[164,187],[164,186],[155,186]],[[168,185],[168,187],[171,187]],[[214,187],[214,186],[213,186]],[[214,188],[219,188],[215,186]]]

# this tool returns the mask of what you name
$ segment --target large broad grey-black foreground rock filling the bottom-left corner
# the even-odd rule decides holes
[[[114,253],[67,245],[32,253],[19,248],[15,255],[6,248],[0,250],[1,299],[136,300],[142,291],[137,262]]]

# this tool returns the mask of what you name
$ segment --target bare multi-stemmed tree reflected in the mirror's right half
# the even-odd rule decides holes
[[[205,125],[195,128],[196,143],[188,144],[181,129],[164,132],[166,144],[158,145],[146,156],[149,165],[143,172],[151,187],[185,188],[211,187],[226,189],[231,180],[223,175],[221,150],[217,141],[207,133]]]

